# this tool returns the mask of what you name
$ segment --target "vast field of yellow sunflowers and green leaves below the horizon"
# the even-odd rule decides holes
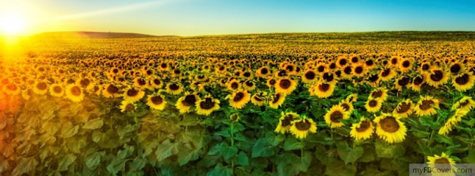
[[[0,175],[409,175],[409,163],[475,163],[474,41],[27,38],[0,52]]]

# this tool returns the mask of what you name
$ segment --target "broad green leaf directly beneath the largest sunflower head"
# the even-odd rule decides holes
[[[390,145],[387,142],[377,139],[374,143],[376,148],[376,154],[378,157],[395,159],[399,156],[403,156],[406,150],[402,145]]]

